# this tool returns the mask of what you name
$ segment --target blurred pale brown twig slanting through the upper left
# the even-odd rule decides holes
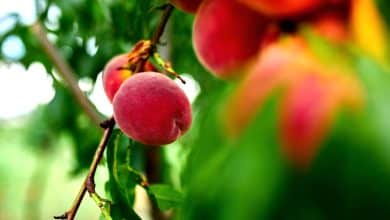
[[[76,74],[73,72],[69,64],[58,52],[58,49],[49,41],[49,39],[47,38],[47,33],[42,27],[41,23],[37,21],[31,26],[30,30],[39,40],[42,49],[47,54],[49,59],[53,62],[54,66],[58,70],[59,75],[61,76],[61,78],[64,79],[73,96],[76,98],[76,101],[80,104],[80,106],[83,108],[84,112],[91,119],[91,121],[94,122],[96,125],[99,125],[99,123],[103,120],[103,117],[96,111],[92,103],[80,90]]]

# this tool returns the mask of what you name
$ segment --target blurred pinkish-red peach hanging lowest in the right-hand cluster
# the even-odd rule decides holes
[[[329,83],[310,74],[292,85],[280,106],[280,140],[289,161],[307,167],[330,128],[336,110]]]

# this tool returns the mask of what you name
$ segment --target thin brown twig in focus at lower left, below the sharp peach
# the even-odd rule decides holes
[[[65,214],[60,216],[55,216],[55,219],[68,219],[73,220],[76,216],[77,210],[80,207],[80,204],[84,198],[84,195],[86,191],[88,190],[90,193],[95,191],[95,183],[94,183],[94,176],[96,173],[97,166],[103,156],[104,149],[107,146],[108,140],[111,136],[111,133],[115,126],[115,120],[114,118],[110,118],[109,120],[102,123],[102,127],[105,128],[104,134],[102,136],[102,139],[100,140],[99,146],[96,149],[93,161],[91,163],[91,166],[89,168],[89,172],[87,177],[85,178],[83,185],[81,186],[81,189],[74,200],[72,207],[69,211],[67,211]],[[91,191],[90,191],[91,190]]]

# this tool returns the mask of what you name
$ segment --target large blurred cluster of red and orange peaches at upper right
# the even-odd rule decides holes
[[[306,167],[337,113],[361,109],[364,92],[353,68],[337,53],[323,59],[304,31],[338,48],[361,46],[380,59],[370,42],[383,40],[380,34],[375,38],[380,20],[373,0],[171,3],[195,14],[192,40],[200,63],[214,76],[238,83],[223,113],[230,136],[240,134],[267,98],[278,95],[280,145],[292,163]],[[367,22],[373,22],[368,35],[374,39],[364,32]]]

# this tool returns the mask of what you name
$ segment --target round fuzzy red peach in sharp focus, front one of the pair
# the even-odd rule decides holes
[[[130,138],[143,144],[169,144],[191,125],[191,106],[167,76],[142,72],[128,78],[113,101],[114,118]]]

